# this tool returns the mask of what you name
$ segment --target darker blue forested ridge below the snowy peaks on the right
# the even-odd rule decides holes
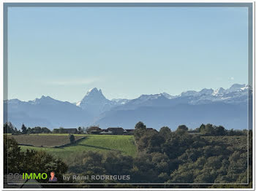
[[[247,107],[245,105],[225,104],[178,104],[176,106],[141,106],[137,109],[111,110],[94,122],[100,127],[119,126],[134,128],[143,121],[149,128],[159,129],[168,126],[175,130],[185,124],[198,128],[202,123],[223,125],[225,128],[246,129]]]

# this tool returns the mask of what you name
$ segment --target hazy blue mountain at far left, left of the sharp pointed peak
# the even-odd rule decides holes
[[[91,114],[67,101],[57,101],[42,96],[34,101],[5,101],[5,120],[17,128],[22,123],[29,127],[43,126],[48,128],[74,127],[91,120]]]

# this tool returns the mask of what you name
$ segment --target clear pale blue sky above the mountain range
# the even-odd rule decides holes
[[[247,83],[245,7],[10,7],[8,98],[178,95]]]

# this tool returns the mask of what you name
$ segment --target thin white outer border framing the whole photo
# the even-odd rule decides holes
[[[253,134],[253,143],[252,143],[252,159],[253,159],[253,163],[252,163],[252,188],[249,189],[241,189],[241,188],[166,188],[166,189],[159,189],[159,188],[141,188],[141,189],[127,189],[127,188],[58,188],[58,189],[53,189],[53,188],[48,188],[48,189],[22,189],[22,190],[255,190],[255,181],[256,181],[256,177],[255,177],[255,1],[249,1],[249,0],[225,0],[225,1],[219,1],[219,0],[197,0],[197,1],[192,1],[192,0],[179,0],[179,1],[172,1],[172,0],[161,0],[161,1],[156,1],[156,0],[94,0],[94,1],[86,1],[86,0],[39,0],[39,1],[33,1],[33,0],[2,0],[1,4],[0,4],[0,13],[1,13],[1,47],[0,47],[0,52],[1,52],[1,67],[0,67],[0,89],[1,89],[1,93],[0,93],[0,127],[3,127],[3,100],[4,100],[4,94],[3,94],[3,90],[4,90],[4,70],[3,70],[3,26],[4,26],[4,19],[3,19],[3,14],[4,14],[4,3],[253,3],[253,7],[252,7],[252,14],[253,14],[253,20],[252,20],[252,28],[253,28],[253,32],[252,32],[252,54],[253,54],[253,58],[252,58],[252,73],[253,73],[253,82],[252,82],[252,86],[253,88],[253,111],[252,111],[252,117],[253,117],[253,123],[252,123],[252,134]],[[0,132],[0,152],[1,152],[1,157],[0,157],[0,163],[1,163],[1,168],[0,168],[0,174],[1,174],[1,178],[0,178],[0,185],[1,185],[1,190],[20,190],[20,189],[4,189],[4,179],[3,179],[3,172],[4,172],[4,163],[3,163],[3,130],[1,130]]]

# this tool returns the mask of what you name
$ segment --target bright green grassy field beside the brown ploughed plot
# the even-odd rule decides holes
[[[68,134],[39,134],[40,136],[68,136]],[[72,154],[82,151],[109,152],[118,151],[122,155],[135,157],[137,149],[133,136],[110,136],[110,135],[75,135],[86,136],[86,139],[78,141],[77,144],[63,148],[45,148],[20,146],[23,151],[26,149],[44,150],[51,155],[60,157],[64,160],[72,157]]]

